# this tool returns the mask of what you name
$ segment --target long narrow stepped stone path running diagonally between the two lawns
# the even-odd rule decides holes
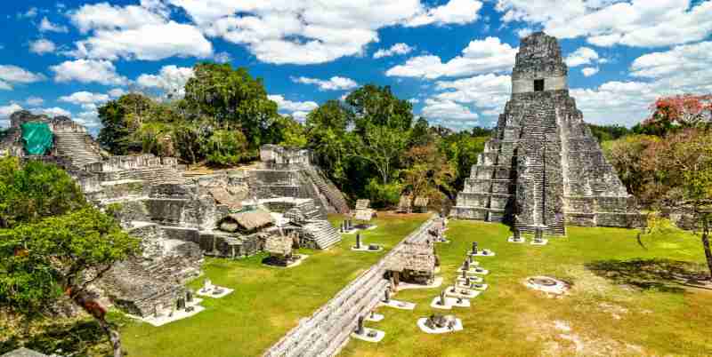
[[[438,224],[440,219],[433,215],[425,221],[311,317],[299,321],[299,325],[287,332],[287,335],[272,345],[263,356],[327,357],[339,353],[349,342],[359,316],[365,316],[376,308],[384,297],[385,290],[389,287],[389,281],[384,279],[388,259],[403,249],[403,242],[422,242],[428,239],[428,230]]]

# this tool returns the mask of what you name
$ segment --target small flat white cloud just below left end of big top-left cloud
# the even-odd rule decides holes
[[[67,60],[52,66],[54,81],[81,83],[101,83],[105,85],[124,85],[128,83],[125,76],[118,75],[114,64],[108,60],[76,59]]]

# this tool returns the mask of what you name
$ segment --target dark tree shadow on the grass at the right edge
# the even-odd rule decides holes
[[[683,293],[686,287],[712,290],[700,264],[672,259],[596,260],[588,270],[617,284],[640,290]]]

